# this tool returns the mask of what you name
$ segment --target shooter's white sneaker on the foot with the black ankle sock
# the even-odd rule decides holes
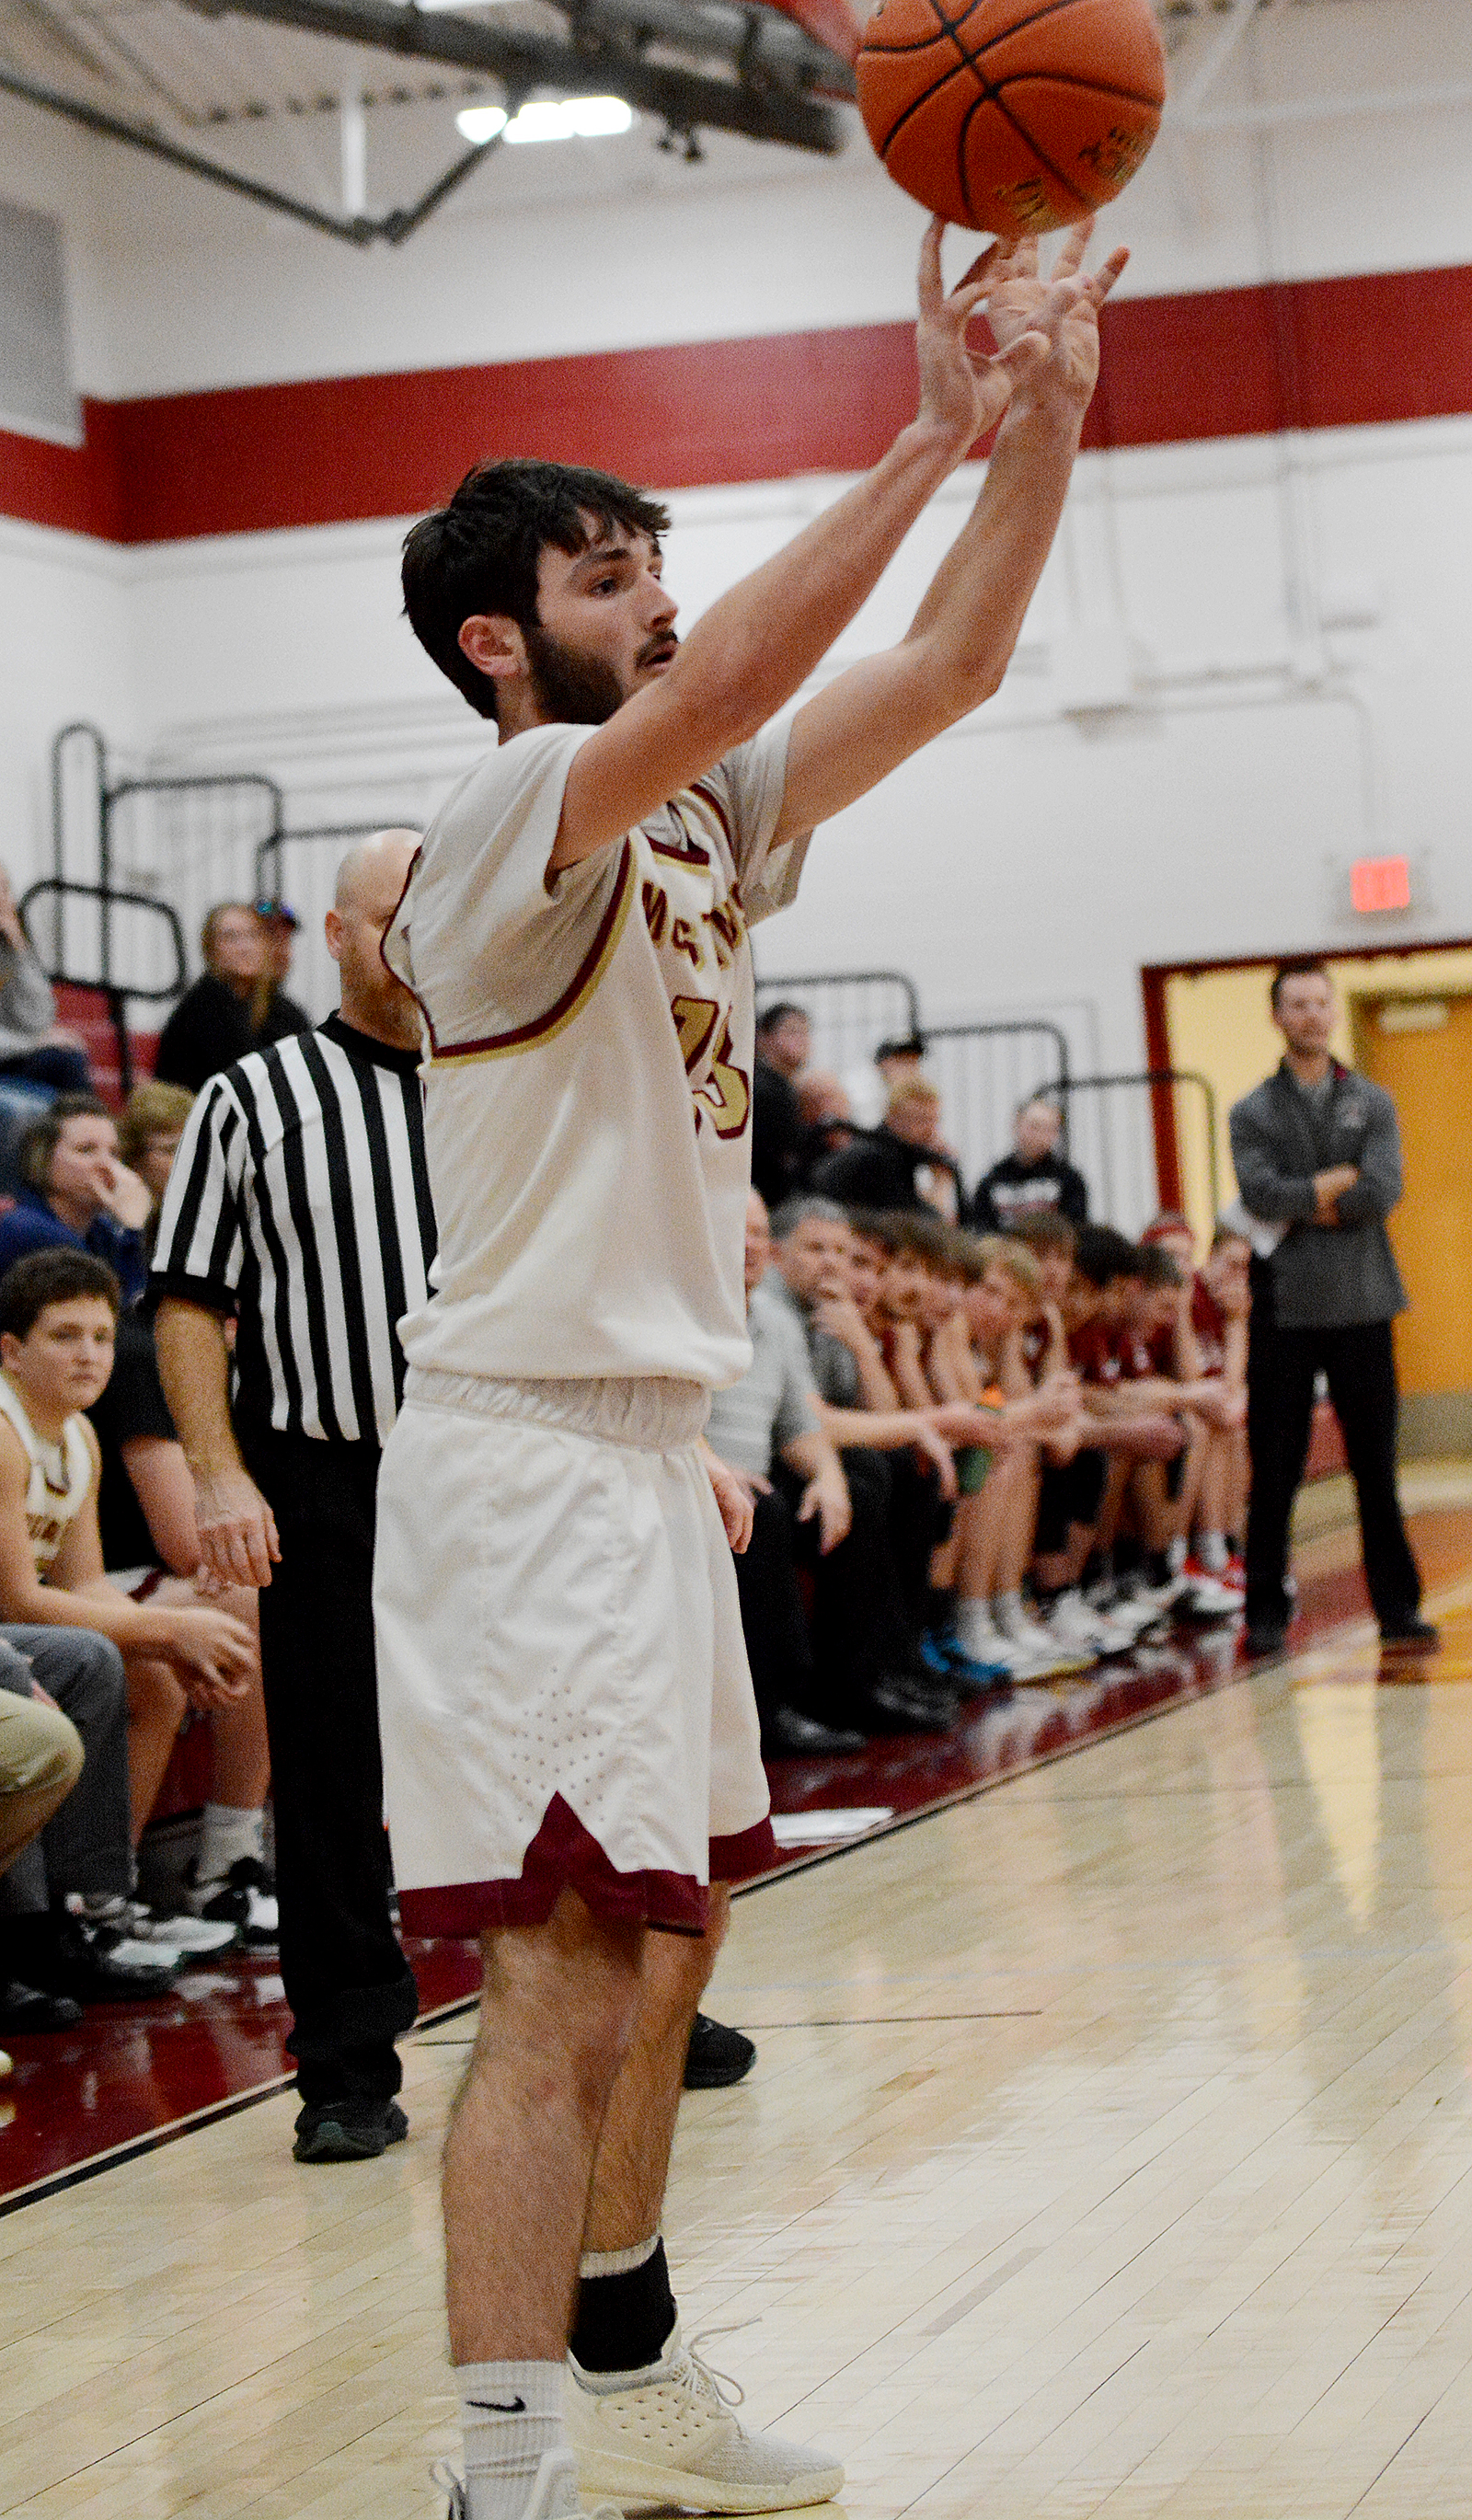
[[[696,2346],[681,2344],[676,2321],[660,2361],[630,2389],[610,2389],[572,2364],[567,2437],[582,2492],[688,2512],[832,2502],[844,2482],[839,2462],[774,2432],[746,2432],[731,2412],[741,2389],[711,2371]]]

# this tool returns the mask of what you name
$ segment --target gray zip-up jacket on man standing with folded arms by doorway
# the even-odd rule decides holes
[[[1386,1235],[1401,1194],[1396,1106],[1369,1076],[1333,1061],[1333,1084],[1316,1106],[1288,1061],[1233,1104],[1233,1164],[1253,1217],[1288,1225],[1268,1268],[1283,1331],[1341,1331],[1404,1313],[1406,1290]],[[1313,1174],[1356,1164],[1359,1182],[1338,1200],[1341,1225],[1313,1222]]]

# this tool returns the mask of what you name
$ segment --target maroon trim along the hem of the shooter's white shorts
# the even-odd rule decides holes
[[[746,1830],[716,1845],[744,1847],[754,1835],[759,1832]],[[577,1890],[582,1905],[610,1923],[665,1925],[673,1933],[706,1930],[703,1882],[688,1872],[618,1872],[562,1794],[552,1794],[542,1827],[522,1857],[519,1880],[401,1890],[398,1913],[406,1933],[431,1940],[492,1933],[499,1925],[544,1925],[562,1890]]]

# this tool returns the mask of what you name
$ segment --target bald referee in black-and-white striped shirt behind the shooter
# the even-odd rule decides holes
[[[204,1565],[262,1588],[300,2162],[371,2160],[408,2132],[396,2039],[418,1998],[388,1908],[371,1588],[396,1326],[434,1257],[418,1011],[378,953],[416,844],[378,832],[338,869],[340,1011],[204,1086],[149,1285]]]

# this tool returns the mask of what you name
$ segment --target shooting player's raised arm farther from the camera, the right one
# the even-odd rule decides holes
[[[779,839],[865,796],[998,688],[1064,514],[1099,378],[1099,307],[1127,262],[1119,249],[1084,275],[1089,234],[1091,222],[1069,232],[1051,280],[1038,275],[1036,239],[975,267],[1003,355],[1044,335],[1046,358],[1018,375],[980,499],[905,640],[852,665],[794,718]]]

